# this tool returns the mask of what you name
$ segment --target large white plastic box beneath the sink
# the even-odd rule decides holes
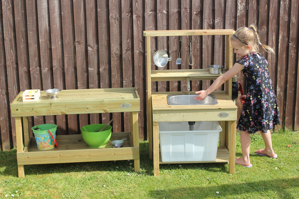
[[[159,122],[162,162],[215,161],[220,131],[217,121],[195,122],[192,131],[188,122]]]

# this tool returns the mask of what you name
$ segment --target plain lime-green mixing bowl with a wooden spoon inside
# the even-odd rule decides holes
[[[110,125],[99,132],[106,124],[89,124],[81,127],[82,138],[90,147],[99,148],[105,146],[111,137]]]

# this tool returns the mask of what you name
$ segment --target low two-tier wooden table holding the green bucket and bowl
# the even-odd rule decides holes
[[[11,114],[16,119],[19,177],[25,176],[24,165],[48,163],[134,160],[135,171],[140,171],[140,99],[135,88],[62,90],[57,99],[49,99],[44,91],[40,91],[38,101],[27,102],[22,101],[22,93],[10,104]],[[111,135],[111,140],[127,138],[122,148],[113,148],[110,142],[102,148],[91,148],[83,141],[82,135],[77,134],[57,135],[58,147],[42,151],[37,149],[35,139],[29,137],[30,116],[111,112],[130,112],[130,132],[113,132]]]

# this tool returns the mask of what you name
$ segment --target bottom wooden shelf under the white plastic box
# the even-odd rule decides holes
[[[184,161],[184,162],[162,162],[161,152],[159,149],[159,164],[178,164],[178,163],[209,163],[209,162],[228,162],[229,152],[225,146],[218,146],[215,161]]]

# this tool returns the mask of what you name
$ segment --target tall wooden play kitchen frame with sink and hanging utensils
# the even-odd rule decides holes
[[[153,30],[144,31],[147,44],[147,103],[149,126],[149,158],[153,158],[154,175],[159,175],[159,164],[168,163],[201,163],[228,162],[230,173],[235,171],[235,141],[237,106],[232,101],[232,79],[225,83],[225,91],[214,91],[216,105],[168,105],[167,95],[187,95],[188,92],[152,92],[151,83],[154,81],[183,81],[183,80],[215,80],[222,74],[209,74],[209,69],[189,70],[151,70],[151,37],[161,36],[226,36],[226,70],[232,67],[233,49],[230,37],[234,30]],[[208,66],[203,66],[208,67]],[[225,70],[223,70],[225,71]],[[190,92],[195,94],[195,92]],[[159,150],[159,122],[184,121],[219,121],[222,132],[219,135],[219,146],[215,161],[182,161],[162,162]]]

